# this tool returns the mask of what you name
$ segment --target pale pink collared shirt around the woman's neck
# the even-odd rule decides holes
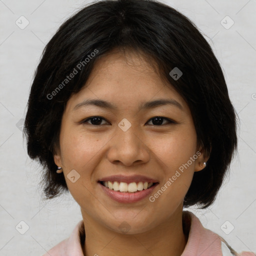
[[[183,224],[188,231],[188,240],[181,256],[256,256],[256,253],[235,252],[225,240],[202,226],[190,211],[183,211]],[[81,243],[84,241],[84,224],[80,220],[71,235],[48,250],[43,256],[84,256]]]

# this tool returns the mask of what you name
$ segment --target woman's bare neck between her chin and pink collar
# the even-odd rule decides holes
[[[85,227],[83,254],[88,255],[181,255],[187,242],[182,228],[182,208],[165,222],[145,232],[124,234],[110,230],[82,212]]]

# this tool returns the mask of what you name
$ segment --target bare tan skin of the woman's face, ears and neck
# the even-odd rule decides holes
[[[139,110],[141,103],[158,98],[175,99],[183,110],[169,104]],[[73,110],[84,99],[107,100],[117,109],[88,105]],[[93,116],[102,119],[88,119]],[[176,123],[163,119],[157,125],[151,119],[155,116]],[[131,123],[125,132],[118,127],[123,118]],[[119,203],[97,182],[114,174],[146,175],[159,182],[152,195],[198,150],[201,155],[154,202],[146,197]],[[180,255],[187,242],[182,230],[183,198],[194,171],[203,169],[200,163],[207,159],[196,143],[188,105],[148,61],[129,50],[125,56],[113,50],[97,60],[85,87],[67,102],[60,148],[54,154],[81,208],[84,255]],[[67,178],[72,169],[80,175],[74,183]],[[123,221],[129,225],[127,233],[118,227]]]

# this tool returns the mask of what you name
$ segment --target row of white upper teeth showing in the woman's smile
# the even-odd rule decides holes
[[[109,189],[113,189],[114,191],[120,191],[120,192],[136,192],[141,191],[143,189],[149,188],[153,183],[152,182],[118,182],[118,181],[103,181],[103,185],[105,187],[108,187]]]

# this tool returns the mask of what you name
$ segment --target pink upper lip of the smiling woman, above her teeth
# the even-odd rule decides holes
[[[118,181],[118,182],[126,182],[126,183],[131,183],[131,182],[158,182],[154,178],[150,178],[144,175],[131,175],[131,176],[126,176],[126,175],[111,175],[107,177],[100,178],[98,181]]]

